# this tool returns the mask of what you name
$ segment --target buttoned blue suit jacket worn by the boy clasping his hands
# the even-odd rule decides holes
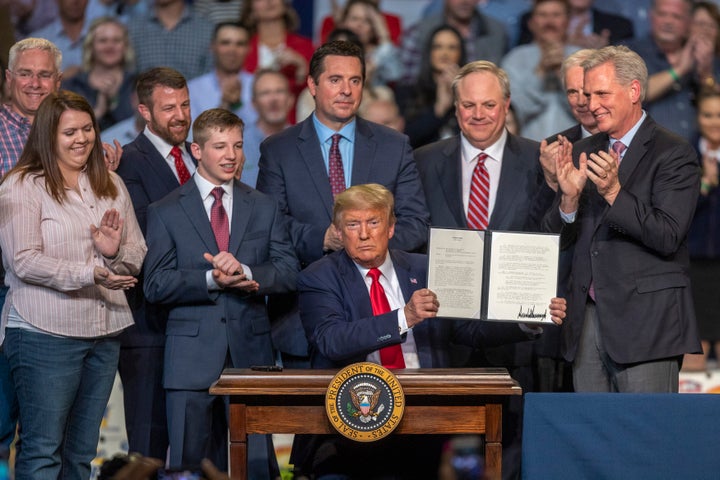
[[[147,242],[145,296],[169,307],[165,388],[207,389],[228,352],[235,367],[273,362],[264,295],[293,290],[298,263],[270,197],[234,183],[228,251],[252,270],[255,294],[208,291],[203,253],[218,247],[192,179],[150,205]]]

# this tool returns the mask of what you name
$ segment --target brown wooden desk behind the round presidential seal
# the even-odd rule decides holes
[[[259,372],[226,369],[210,387],[230,397],[230,478],[247,479],[251,433],[337,434],[325,413],[335,370]],[[485,477],[500,479],[502,402],[522,390],[504,368],[405,369],[393,372],[405,392],[405,413],[393,435],[485,435]]]

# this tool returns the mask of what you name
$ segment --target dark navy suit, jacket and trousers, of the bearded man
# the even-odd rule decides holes
[[[186,144],[190,151],[190,144]],[[180,186],[165,159],[144,133],[123,147],[117,174],[125,182],[135,216],[146,233],[147,207]],[[153,458],[165,458],[168,447],[165,391],[162,387],[167,312],[145,301],[143,275],[127,291],[135,325],[121,334],[118,372],[123,383],[128,448]]]

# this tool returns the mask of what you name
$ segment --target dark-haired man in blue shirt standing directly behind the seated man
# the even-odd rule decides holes
[[[342,248],[332,225],[334,196],[368,182],[387,186],[395,196],[393,248],[412,251],[427,240],[428,214],[407,137],[357,117],[365,80],[360,47],[344,41],[326,43],[310,61],[307,85],[315,112],[301,123],[270,136],[260,147],[257,188],[273,196],[286,215],[290,238],[301,264]],[[305,358],[294,301],[271,299],[288,334],[274,337],[284,353]]]

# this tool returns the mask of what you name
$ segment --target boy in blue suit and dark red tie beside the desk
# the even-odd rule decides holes
[[[208,457],[226,470],[226,402],[208,389],[225,367],[273,363],[265,295],[294,290],[298,263],[275,201],[234,180],[242,168],[242,120],[207,110],[193,138],[197,172],[148,209],[144,291],[168,308],[170,465]],[[224,442],[213,443],[219,437]],[[267,458],[265,440],[251,436],[251,457]],[[262,467],[248,477],[270,478],[267,462]]]

